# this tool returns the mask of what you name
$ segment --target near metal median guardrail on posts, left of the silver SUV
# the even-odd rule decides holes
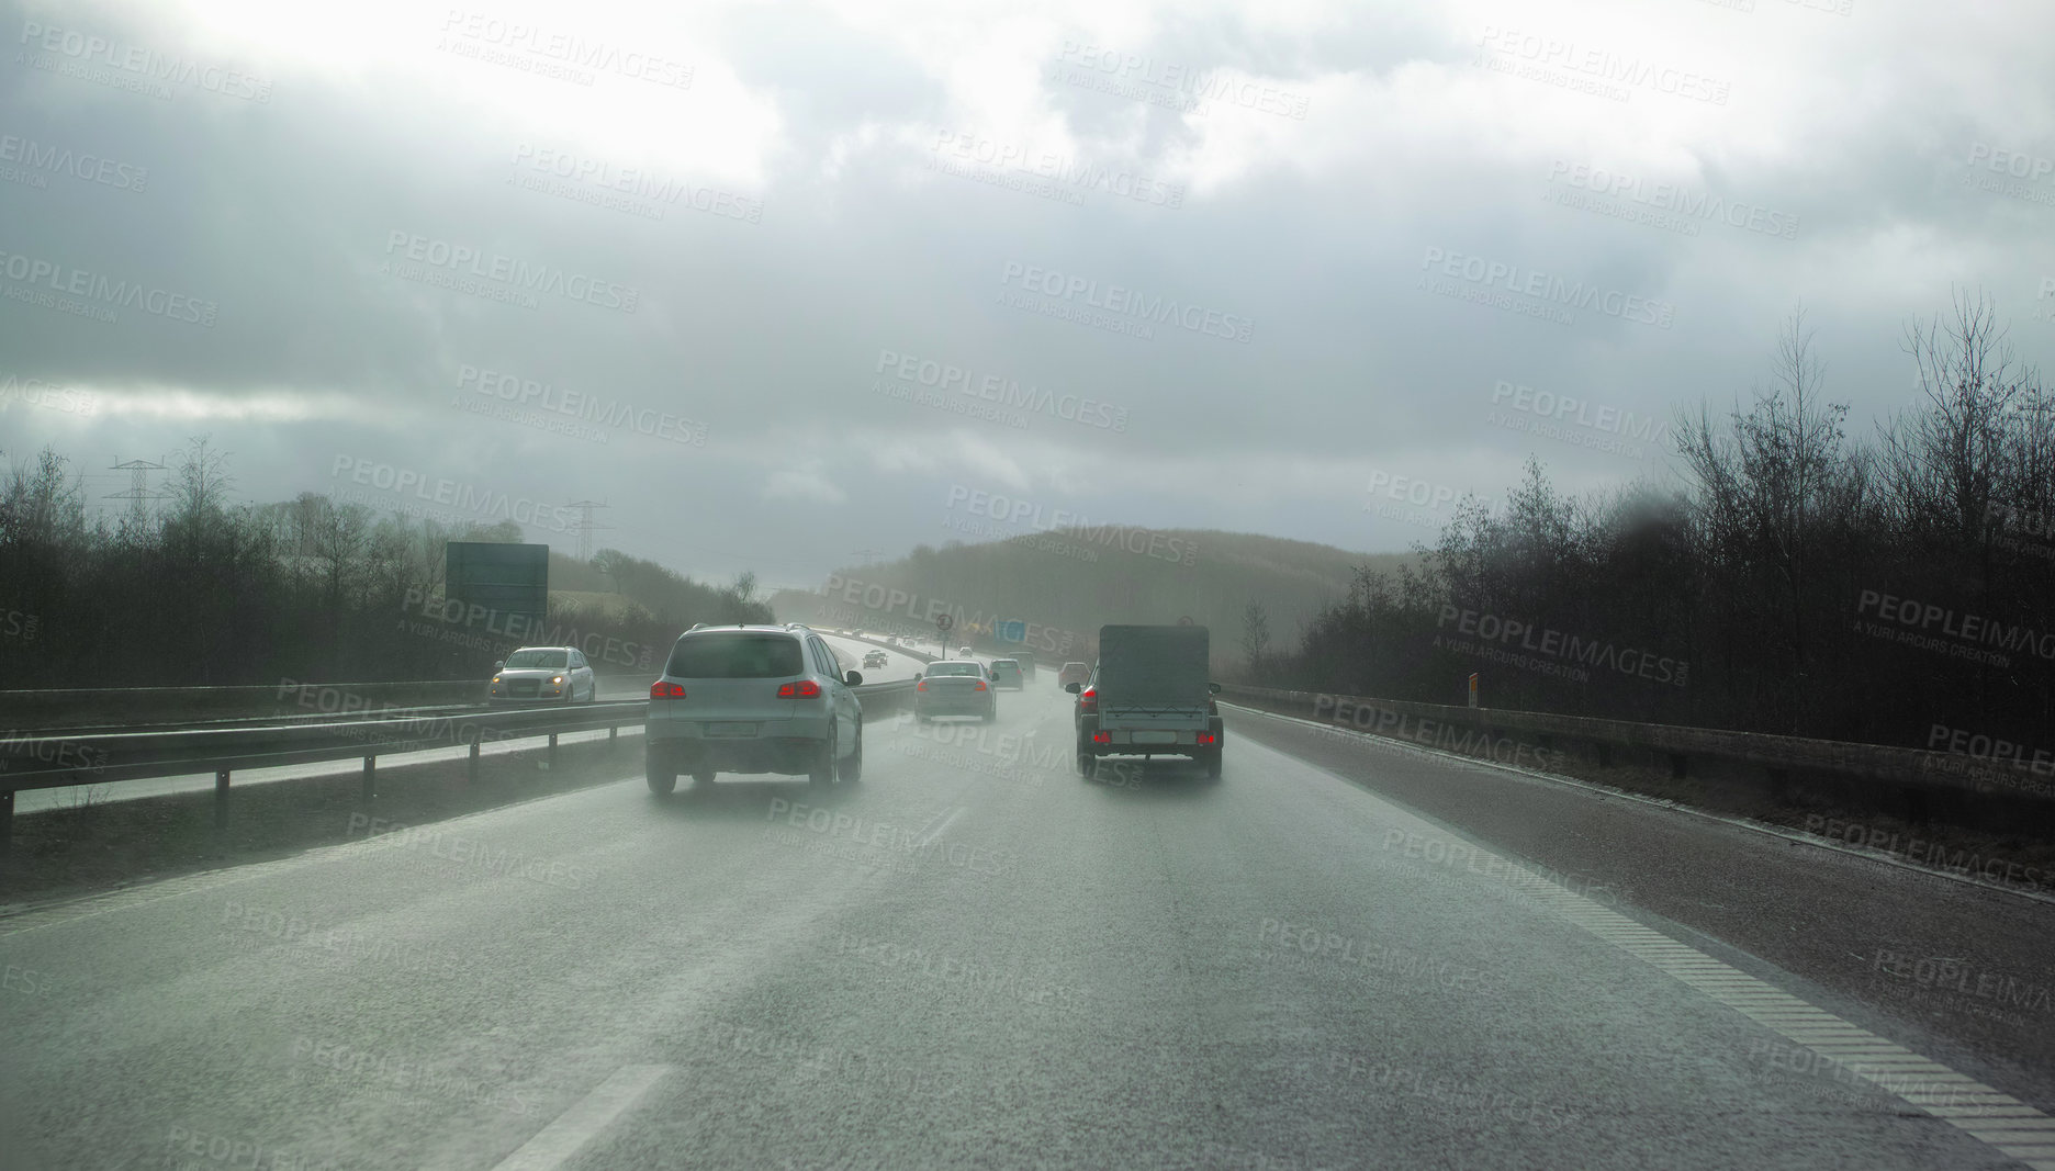
[[[865,715],[892,711],[912,694],[912,680],[857,686]],[[269,690],[269,688],[267,688]],[[214,772],[214,824],[228,824],[228,781],[242,768],[364,760],[364,801],[376,795],[376,758],[434,748],[471,748],[471,779],[477,779],[481,744],[596,731],[608,740],[623,727],[639,727],[649,713],[647,698],[602,701],[575,707],[530,707],[446,711],[384,719],[294,721],[261,727],[191,727],[156,731],[113,731],[88,735],[0,733],[0,853],[12,836],[14,793],[109,785],[154,777]]]

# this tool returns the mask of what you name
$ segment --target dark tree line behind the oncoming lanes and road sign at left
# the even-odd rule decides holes
[[[234,503],[232,487],[228,458],[191,440],[160,512],[88,522],[62,454],[16,464],[0,491],[0,690],[483,678],[524,641],[653,674],[693,622],[771,620],[748,573],[709,586],[614,549],[551,553],[553,588],[604,583],[608,604],[551,598],[534,629],[477,620],[440,606],[444,542],[520,542],[518,524],[380,518],[321,493]]]

